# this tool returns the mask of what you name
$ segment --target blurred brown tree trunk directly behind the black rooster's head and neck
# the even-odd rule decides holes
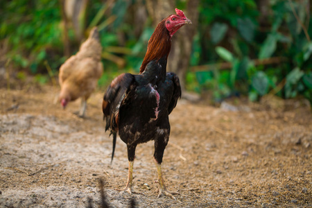
[[[148,13],[153,17],[154,24],[175,13],[174,1],[148,0]],[[183,26],[173,35],[171,53],[168,57],[167,71],[172,71],[180,78],[182,94],[185,91],[185,79],[189,67],[193,37],[198,24],[199,0],[187,1],[187,8],[183,10],[185,16],[191,19],[191,25]]]

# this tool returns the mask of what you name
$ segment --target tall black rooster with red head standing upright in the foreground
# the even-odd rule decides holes
[[[157,164],[159,194],[175,199],[166,189],[162,177],[162,157],[168,144],[170,123],[168,115],[181,97],[179,78],[175,73],[166,73],[167,58],[171,50],[171,37],[184,24],[191,24],[182,10],[169,15],[155,28],[148,41],[148,49],[140,67],[139,75],[123,73],[110,83],[103,98],[105,130],[113,135],[112,159],[116,146],[116,135],[127,145],[128,181],[124,189],[135,193],[132,188],[132,170],[137,144],[155,141],[154,158]]]

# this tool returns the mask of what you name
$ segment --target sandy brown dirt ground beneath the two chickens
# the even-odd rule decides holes
[[[100,205],[103,178],[112,207],[128,207],[128,159],[105,132],[103,92],[66,110],[57,87],[0,89],[0,207]],[[235,102],[232,102],[235,103]],[[312,207],[312,116],[306,101],[211,107],[180,100],[170,115],[163,170],[177,200],[157,198],[153,141],[137,147],[133,194],[137,207]]]

